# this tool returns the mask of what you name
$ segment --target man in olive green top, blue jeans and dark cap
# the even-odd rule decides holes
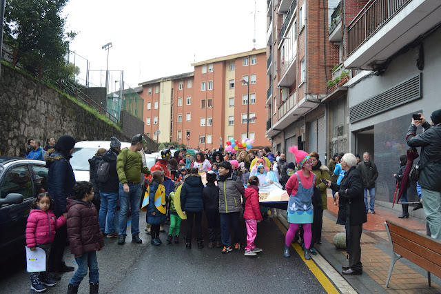
[[[125,243],[127,236],[127,215],[129,213],[129,202],[132,208],[132,242],[141,244],[139,238],[139,203],[141,202],[141,173],[150,175],[150,170],[143,166],[143,157],[140,150],[143,150],[147,143],[141,134],[132,138],[132,145],[121,150],[116,158],[116,172],[119,177],[119,204],[121,206],[119,217],[119,239],[118,244]]]

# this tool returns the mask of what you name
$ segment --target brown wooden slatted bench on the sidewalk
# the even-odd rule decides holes
[[[391,280],[393,266],[404,257],[427,271],[427,280],[431,286],[430,274],[441,277],[441,242],[422,233],[412,231],[400,224],[384,222],[389,244],[391,245],[391,267],[387,276],[386,288]]]

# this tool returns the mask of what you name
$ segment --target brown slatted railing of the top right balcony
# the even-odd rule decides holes
[[[349,25],[349,55],[412,0],[373,0]]]

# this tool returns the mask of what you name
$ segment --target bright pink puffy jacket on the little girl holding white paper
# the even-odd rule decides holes
[[[54,242],[55,229],[65,223],[65,217],[61,215],[56,219],[52,210],[30,210],[28,224],[26,224],[26,244],[28,247],[34,247],[37,244]]]

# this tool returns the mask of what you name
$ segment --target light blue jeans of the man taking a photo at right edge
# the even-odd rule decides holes
[[[441,192],[421,188],[421,195],[431,237],[441,240]]]

